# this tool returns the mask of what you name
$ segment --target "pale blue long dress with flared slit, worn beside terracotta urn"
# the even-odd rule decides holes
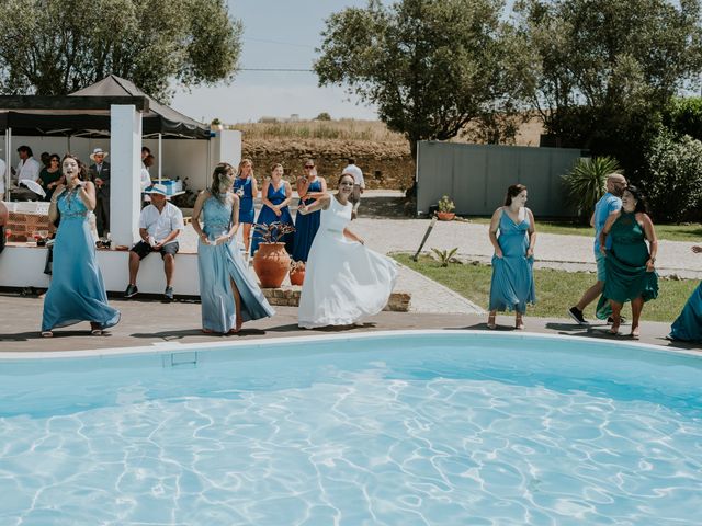
[[[229,194],[224,202],[211,196],[203,204],[203,231],[211,240],[231,228],[231,201]],[[203,329],[224,334],[236,327],[237,312],[231,281],[241,297],[242,321],[258,320],[275,313],[241,259],[236,239],[216,247],[205,244],[201,239],[197,245],[197,268]]]

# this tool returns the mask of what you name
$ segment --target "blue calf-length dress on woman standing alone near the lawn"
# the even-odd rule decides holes
[[[524,313],[526,304],[536,302],[534,259],[526,258],[529,222],[529,214],[518,225],[502,211],[497,238],[502,249],[502,258],[492,256],[490,310],[517,310]]]

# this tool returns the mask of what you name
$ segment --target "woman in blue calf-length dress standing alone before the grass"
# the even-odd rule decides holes
[[[536,301],[533,273],[536,231],[534,216],[525,204],[526,186],[513,184],[507,190],[505,206],[492,214],[489,236],[495,255],[488,329],[497,327],[495,318],[498,310],[514,310],[514,327],[524,329],[522,316],[526,312],[526,304]]]

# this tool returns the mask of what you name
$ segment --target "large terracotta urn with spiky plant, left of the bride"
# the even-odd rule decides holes
[[[290,270],[290,255],[285,251],[283,236],[295,231],[295,227],[284,222],[254,225],[254,233],[262,238],[253,254],[253,271],[259,276],[262,288],[278,288]]]

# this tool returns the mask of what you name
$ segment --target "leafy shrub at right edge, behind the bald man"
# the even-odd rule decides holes
[[[702,142],[661,129],[646,153],[644,181],[657,220],[680,222],[702,216]]]

